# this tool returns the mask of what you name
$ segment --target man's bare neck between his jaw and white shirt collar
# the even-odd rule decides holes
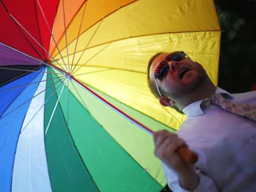
[[[211,97],[216,92],[216,86],[212,83],[211,79],[205,79],[204,83],[200,84],[195,91],[186,94],[186,99],[177,102],[177,107],[182,111],[183,108],[197,100],[206,99]]]

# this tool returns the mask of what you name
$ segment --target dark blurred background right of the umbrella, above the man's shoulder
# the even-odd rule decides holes
[[[222,29],[218,86],[230,93],[256,90],[256,1],[214,2]]]

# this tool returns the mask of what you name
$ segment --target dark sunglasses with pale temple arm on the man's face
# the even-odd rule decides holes
[[[160,93],[160,90],[157,86],[156,79],[162,80],[166,76],[168,70],[170,69],[170,66],[169,66],[168,62],[170,62],[170,61],[181,61],[182,59],[184,59],[186,57],[189,58],[189,56],[185,52],[175,51],[175,52],[172,52],[171,54],[169,54],[166,57],[166,59],[164,61],[162,61],[157,66],[157,68],[154,72],[154,81],[155,81],[155,84],[156,84],[157,92],[159,93],[160,97],[162,97],[162,94]]]

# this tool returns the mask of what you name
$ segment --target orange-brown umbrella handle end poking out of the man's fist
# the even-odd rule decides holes
[[[188,164],[195,164],[198,160],[197,154],[192,150],[189,150],[188,147],[178,148],[177,153]]]

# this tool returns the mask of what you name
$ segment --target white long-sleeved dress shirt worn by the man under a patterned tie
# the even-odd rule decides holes
[[[217,88],[216,93],[228,93]],[[256,92],[230,94],[233,102],[256,104]],[[202,100],[186,106],[187,119],[177,134],[198,154],[195,164],[200,184],[196,192],[256,191],[256,123],[218,106],[200,108]],[[163,163],[168,186],[186,191]]]

